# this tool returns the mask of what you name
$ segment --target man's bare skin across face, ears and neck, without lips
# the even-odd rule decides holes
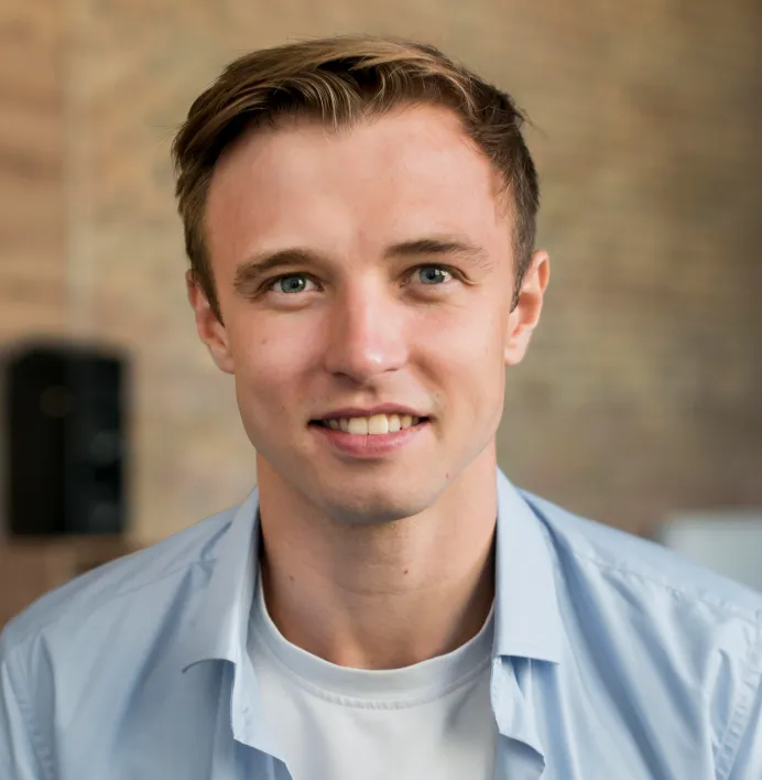
[[[510,209],[457,118],[433,106],[246,137],[215,170],[206,236],[222,322],[189,273],[188,297],[257,448],[275,625],[355,668],[459,647],[494,595],[505,367],[537,324],[547,254],[511,311]],[[421,239],[471,250],[409,243]],[[428,416],[391,454],[353,457],[309,424],[381,403]]]

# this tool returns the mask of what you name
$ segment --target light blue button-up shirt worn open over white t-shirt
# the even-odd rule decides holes
[[[762,596],[498,491],[496,778],[761,780]],[[258,544],[254,491],[7,626],[0,778],[289,778],[247,651]]]

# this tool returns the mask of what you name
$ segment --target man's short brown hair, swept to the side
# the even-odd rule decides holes
[[[514,216],[514,303],[534,249],[537,173],[510,95],[434,46],[396,37],[347,35],[307,40],[247,54],[228,65],[190,106],[172,144],[176,196],[190,268],[221,322],[204,214],[215,164],[244,132],[306,116],[340,128],[402,105],[451,109],[499,174]]]

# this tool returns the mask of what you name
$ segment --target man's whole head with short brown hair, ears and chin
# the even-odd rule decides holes
[[[548,278],[522,123],[434,47],[371,36],[246,55],[193,104],[173,145],[188,295],[263,490],[379,522],[494,468]]]

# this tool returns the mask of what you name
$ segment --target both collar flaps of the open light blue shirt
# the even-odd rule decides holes
[[[558,663],[560,614],[544,527],[500,469],[497,488],[493,654]],[[215,659],[238,667],[248,656],[259,561],[259,491],[252,490],[233,512],[199,609],[184,637],[183,671]]]

